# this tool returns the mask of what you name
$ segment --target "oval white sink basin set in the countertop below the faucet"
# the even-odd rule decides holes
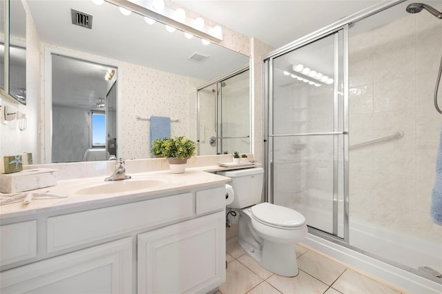
[[[87,188],[79,189],[75,192],[76,195],[97,195],[97,194],[111,194],[122,192],[133,192],[136,190],[145,190],[155,188],[164,184],[162,181],[155,179],[136,179],[136,180],[122,180],[113,182],[104,182],[102,184],[95,184]]]

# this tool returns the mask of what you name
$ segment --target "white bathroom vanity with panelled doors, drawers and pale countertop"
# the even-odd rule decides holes
[[[66,199],[1,206],[0,292],[209,293],[217,288],[225,281],[229,178],[190,170],[140,173],[125,181],[143,179],[162,182],[93,194],[94,186],[104,184],[101,177],[68,180],[42,189],[68,194]]]

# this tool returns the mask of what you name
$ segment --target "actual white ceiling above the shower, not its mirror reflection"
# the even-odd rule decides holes
[[[274,48],[290,43],[381,0],[173,0]]]

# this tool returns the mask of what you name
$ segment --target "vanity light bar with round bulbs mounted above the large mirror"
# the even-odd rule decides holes
[[[203,43],[207,41],[213,41],[219,43],[222,41],[222,28],[220,26],[207,26],[204,24],[204,19],[197,17],[191,19],[186,17],[186,13],[182,8],[173,10],[164,6],[163,0],[145,0],[145,1],[128,1],[128,0],[105,0],[108,3],[112,3],[119,8],[131,10],[135,14],[140,14],[143,17],[153,19],[163,23],[164,25],[171,26],[177,30],[181,30],[189,35],[200,37],[204,39]],[[135,3],[136,2],[136,3]],[[183,13],[184,12],[184,13]],[[147,20],[146,20],[147,22]],[[189,35],[186,35],[187,38]]]

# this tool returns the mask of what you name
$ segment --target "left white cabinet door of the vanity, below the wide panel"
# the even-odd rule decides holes
[[[0,293],[131,293],[132,238],[0,273]]]

